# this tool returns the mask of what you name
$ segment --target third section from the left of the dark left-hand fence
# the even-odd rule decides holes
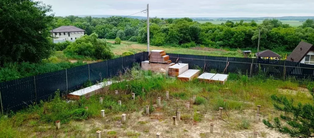
[[[89,79],[88,64],[67,69],[68,91],[74,91]]]

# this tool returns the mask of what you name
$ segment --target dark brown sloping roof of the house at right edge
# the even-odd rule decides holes
[[[312,47],[312,44],[301,41],[299,45],[296,46],[292,53],[287,57],[286,60],[292,61],[291,58],[293,58],[294,62],[300,62]]]

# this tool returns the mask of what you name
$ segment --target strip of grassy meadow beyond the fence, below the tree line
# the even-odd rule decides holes
[[[114,43],[114,40],[108,39],[108,42]],[[131,41],[122,41],[121,44],[112,45],[112,51],[116,55],[122,55],[123,52],[143,52],[147,51],[147,44],[140,44],[138,42],[131,42]],[[181,47],[157,47],[157,46],[150,46],[150,50],[158,49],[158,50],[165,50],[168,53],[179,53],[179,54],[194,54],[194,55],[209,55],[209,56],[225,56],[225,57],[243,57],[243,54],[240,49],[234,51],[228,51],[224,49],[215,49],[215,48],[208,48],[208,47],[193,47],[193,48],[181,48]]]

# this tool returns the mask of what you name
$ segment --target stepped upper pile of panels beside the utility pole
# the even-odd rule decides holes
[[[170,57],[166,55],[165,50],[152,50],[149,51],[149,61],[154,63],[171,63]]]

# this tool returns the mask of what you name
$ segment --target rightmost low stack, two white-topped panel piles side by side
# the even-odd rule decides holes
[[[228,75],[226,74],[214,74],[214,73],[203,73],[198,76],[198,79],[205,82],[217,82],[224,84],[227,81]]]

